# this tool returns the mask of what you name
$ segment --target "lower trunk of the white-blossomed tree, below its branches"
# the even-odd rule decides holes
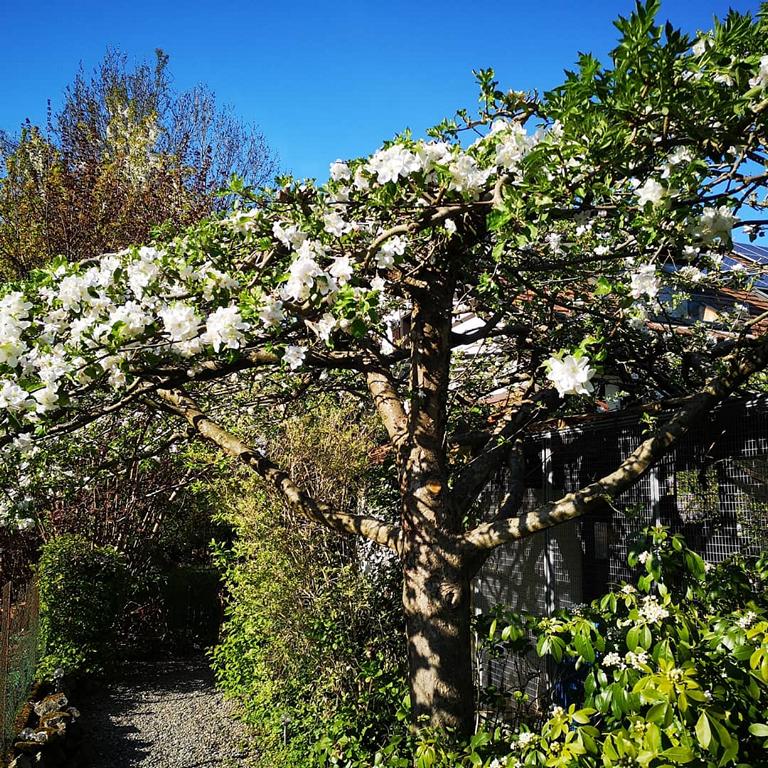
[[[414,721],[469,735],[474,727],[470,579],[460,559],[413,543],[405,553],[403,605]]]

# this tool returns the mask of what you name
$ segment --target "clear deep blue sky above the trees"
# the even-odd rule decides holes
[[[257,123],[284,170],[327,177],[410,127],[417,134],[457,107],[474,107],[471,70],[492,66],[505,88],[544,89],[578,51],[603,58],[612,20],[632,0],[210,2],[0,0],[0,128],[45,120],[80,62],[107,47],[136,59],[170,54],[179,89],[207,83]],[[708,29],[728,7],[758,0],[668,0],[661,15]]]

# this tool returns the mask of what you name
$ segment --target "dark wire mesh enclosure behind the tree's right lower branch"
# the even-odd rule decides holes
[[[575,491],[615,469],[644,438],[636,418],[611,415],[532,435],[525,446],[523,512]],[[501,475],[481,504],[489,514],[507,490]],[[683,534],[708,562],[768,550],[768,397],[731,401],[701,419],[614,509],[499,548],[476,581],[475,603],[546,615],[589,602],[632,577],[629,549],[660,523]],[[525,690],[532,701],[556,691],[562,670],[516,678],[503,659],[481,659],[482,685]]]

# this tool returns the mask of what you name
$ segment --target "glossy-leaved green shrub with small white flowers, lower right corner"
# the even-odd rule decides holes
[[[658,527],[629,561],[637,584],[589,607],[482,623],[497,650],[525,651],[520,628],[531,630],[538,652],[575,664],[581,682],[575,701],[519,731],[496,764],[765,765],[768,558],[705,568]]]

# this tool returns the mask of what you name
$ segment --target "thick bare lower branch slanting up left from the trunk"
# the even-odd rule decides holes
[[[350,515],[315,501],[291,480],[287,472],[208,418],[182,390],[160,389],[157,396],[166,409],[185,419],[200,436],[269,482],[300,515],[340,533],[359,534],[395,553],[400,552],[399,526],[389,525],[368,515]]]

